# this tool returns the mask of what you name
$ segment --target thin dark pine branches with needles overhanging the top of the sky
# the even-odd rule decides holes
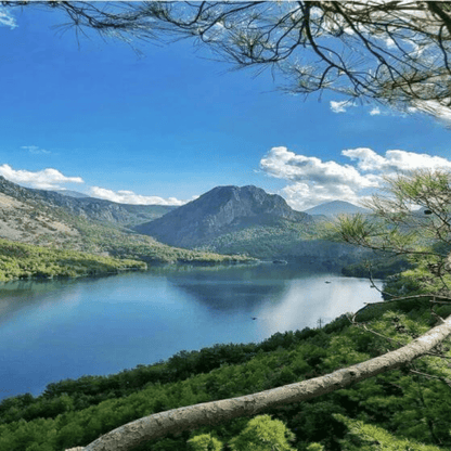
[[[451,104],[451,4],[444,1],[2,2],[62,10],[77,34],[194,38],[234,68],[269,67],[283,89],[333,90],[439,116]]]

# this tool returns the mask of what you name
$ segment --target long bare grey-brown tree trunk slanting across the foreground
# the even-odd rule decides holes
[[[279,405],[317,398],[402,366],[429,352],[450,334],[451,315],[411,344],[384,356],[300,383],[145,416],[101,436],[86,448],[73,448],[67,451],[126,451],[144,441],[169,434],[216,425],[239,416],[255,415]]]

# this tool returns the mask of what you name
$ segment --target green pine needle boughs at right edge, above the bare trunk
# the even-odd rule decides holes
[[[415,268],[405,274],[418,292],[449,295],[451,173],[415,171],[387,178],[386,182],[386,194],[374,195],[366,203],[374,215],[342,217],[338,237],[405,256]]]

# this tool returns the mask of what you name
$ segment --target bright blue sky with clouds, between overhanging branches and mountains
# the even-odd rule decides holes
[[[255,184],[296,209],[357,203],[382,176],[451,169],[448,117],[346,106],[228,72],[191,41],[77,41],[67,20],[0,9],[0,175],[25,186],[180,205]],[[451,124],[451,123],[449,123]]]

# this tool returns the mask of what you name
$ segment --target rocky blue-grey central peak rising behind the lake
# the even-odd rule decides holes
[[[284,222],[307,224],[312,218],[295,211],[281,196],[260,188],[217,186],[134,230],[172,246],[195,247],[231,232]]]

